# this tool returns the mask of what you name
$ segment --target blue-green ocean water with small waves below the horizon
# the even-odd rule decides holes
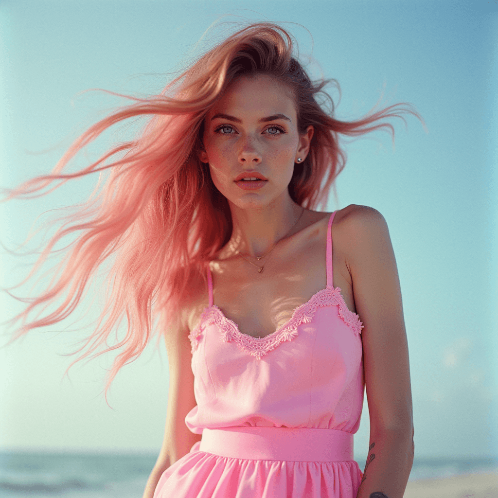
[[[0,453],[0,498],[141,498],[157,455]],[[360,469],[365,458],[356,458]],[[490,472],[494,458],[417,458],[409,481]]]

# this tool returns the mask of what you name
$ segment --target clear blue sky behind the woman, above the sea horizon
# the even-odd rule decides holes
[[[387,221],[408,336],[416,456],[497,455],[497,11],[496,1],[2,1],[1,185],[50,171],[87,126],[127,103],[80,92],[158,93],[171,77],[165,73],[195,55],[195,42],[222,16],[282,22],[304,60],[312,50],[323,75],[339,81],[339,119],[364,116],[384,89],[381,107],[409,102],[425,120],[428,133],[412,116],[407,127],[391,119],[395,148],[385,131],[349,139],[339,205],[331,194],[327,211],[367,205]],[[320,76],[316,64],[309,69]],[[99,157],[117,133],[105,133],[74,167]],[[12,249],[39,215],[82,202],[96,180],[1,205],[1,242]],[[1,258],[3,285],[32,261]],[[19,309],[4,295],[0,304],[0,320]],[[73,358],[61,355],[91,332],[68,325],[0,350],[0,450],[158,451],[165,348],[151,345],[120,372],[111,410],[100,394],[111,355],[77,364],[71,381],[62,379]],[[365,397],[355,458],[367,455],[368,443]]]

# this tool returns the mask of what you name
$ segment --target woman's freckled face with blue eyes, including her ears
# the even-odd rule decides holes
[[[294,102],[273,78],[240,77],[206,115],[199,158],[209,162],[213,183],[229,201],[241,209],[258,208],[288,195],[294,163],[305,159],[312,136],[311,125],[299,135]],[[245,171],[257,171],[267,181],[257,190],[243,190],[234,180]]]

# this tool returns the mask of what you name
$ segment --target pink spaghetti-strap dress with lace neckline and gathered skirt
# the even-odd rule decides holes
[[[360,317],[332,283],[263,338],[242,334],[213,304],[189,338],[202,440],[168,467],[154,498],[356,498],[363,473],[353,434],[363,408]]]

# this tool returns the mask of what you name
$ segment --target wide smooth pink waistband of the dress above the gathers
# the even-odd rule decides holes
[[[354,459],[353,443],[353,434],[338,429],[205,427],[200,443],[196,443],[190,451],[200,450],[247,460],[337,462]]]

